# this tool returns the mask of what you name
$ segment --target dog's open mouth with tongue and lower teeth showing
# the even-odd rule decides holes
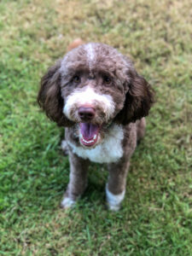
[[[98,140],[101,126],[90,123],[80,123],[80,142],[85,147],[92,147]]]

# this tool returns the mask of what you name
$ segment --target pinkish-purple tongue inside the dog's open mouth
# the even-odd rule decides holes
[[[92,125],[89,123],[80,123],[80,131],[86,141],[93,139],[99,132],[98,125]]]

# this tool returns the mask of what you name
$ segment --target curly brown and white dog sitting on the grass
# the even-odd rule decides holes
[[[69,49],[41,79],[38,92],[49,119],[65,127],[70,180],[61,207],[72,207],[84,193],[93,161],[108,164],[108,208],[118,211],[154,90],[129,58],[107,44],[80,41]]]

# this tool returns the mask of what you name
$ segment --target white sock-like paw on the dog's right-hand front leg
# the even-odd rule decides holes
[[[108,190],[108,186],[106,186],[106,196],[108,201],[108,209],[117,212],[119,211],[121,201],[123,201],[125,197],[125,190],[119,195],[114,195]]]

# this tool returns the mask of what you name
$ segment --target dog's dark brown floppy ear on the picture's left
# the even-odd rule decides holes
[[[68,126],[69,120],[62,112],[64,100],[61,97],[61,60],[41,79],[41,86],[38,92],[38,104],[44,109],[49,119],[55,121],[59,126]]]

